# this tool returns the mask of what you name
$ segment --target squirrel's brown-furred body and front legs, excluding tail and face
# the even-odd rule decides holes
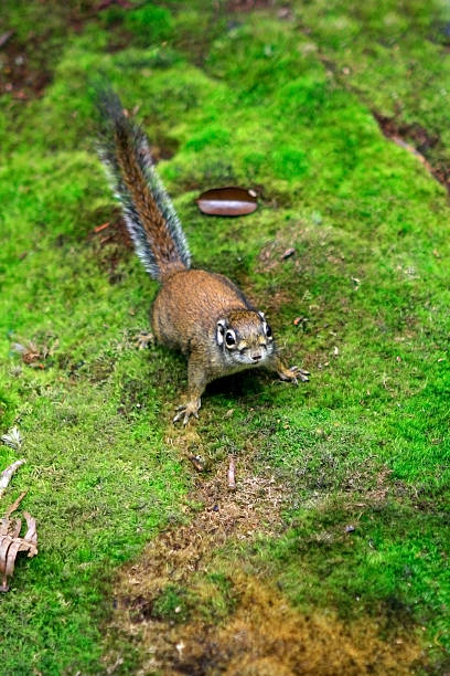
[[[221,319],[236,334],[236,346],[229,349],[229,355],[239,350],[251,355],[266,346],[261,316],[227,277],[202,270],[183,270],[164,276],[153,305],[153,331],[160,342],[189,356],[188,402],[180,406],[175,421],[183,418],[186,424],[190,415],[197,416],[201,395],[212,380],[259,366],[226,360],[226,350],[218,346],[216,337]],[[283,380],[297,382],[297,373],[307,379],[301,371],[282,365],[272,341],[269,348],[261,366],[276,371]]]

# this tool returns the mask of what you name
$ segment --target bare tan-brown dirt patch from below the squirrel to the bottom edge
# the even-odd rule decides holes
[[[202,448],[195,430],[173,433],[167,442],[185,457]],[[226,611],[207,616],[214,595],[207,580],[217,549],[231,538],[253,540],[257,532],[280,528],[283,486],[270,475],[253,475],[253,453],[249,443],[237,457],[233,492],[227,461],[208,478],[196,474],[191,500],[197,507],[186,510],[190,521],[161,532],[137,562],[122,569],[107,631],[108,673],[121,673],[120,635],[138,646],[142,662],[136,673],[141,675],[158,669],[168,676],[410,674],[422,657],[411,635],[382,641],[372,620],[344,624],[330,613],[304,615],[269,580],[245,573],[244,561],[227,563]],[[164,617],[160,600],[168,589],[191,602]]]

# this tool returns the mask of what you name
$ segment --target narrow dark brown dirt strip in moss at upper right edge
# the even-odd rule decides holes
[[[407,125],[394,117],[373,112],[383,134],[397,146],[411,152],[450,194],[450,166],[443,160],[431,160],[429,152],[440,144],[437,134],[429,134],[418,124]]]

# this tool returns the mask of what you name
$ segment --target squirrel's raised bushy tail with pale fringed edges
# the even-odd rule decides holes
[[[98,154],[124,210],[136,252],[154,279],[191,266],[180,220],[154,169],[144,131],[124,113],[119,97],[98,93],[104,130]]]

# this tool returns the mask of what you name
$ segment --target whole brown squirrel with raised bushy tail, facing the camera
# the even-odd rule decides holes
[[[264,315],[224,275],[191,267],[175,209],[154,169],[143,129],[125,114],[113,92],[98,95],[106,167],[137,255],[161,287],[151,324],[157,340],[188,357],[188,397],[173,422],[199,418],[208,382],[249,368],[275,371],[298,384],[309,373],[287,368]]]

